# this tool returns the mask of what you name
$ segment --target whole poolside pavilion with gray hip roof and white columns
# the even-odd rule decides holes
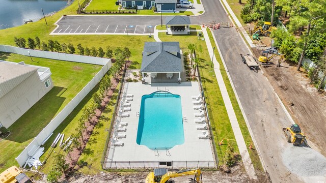
[[[146,42],[140,70],[142,82],[181,83],[185,80],[180,52],[179,42]]]

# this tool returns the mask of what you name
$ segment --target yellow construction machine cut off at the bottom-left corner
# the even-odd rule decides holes
[[[0,183],[33,183],[18,167],[12,166],[0,174]]]

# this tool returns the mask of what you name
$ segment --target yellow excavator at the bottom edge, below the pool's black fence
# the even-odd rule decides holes
[[[186,175],[195,175],[195,178],[189,178],[190,182],[202,183],[202,174],[200,169],[193,170],[183,170],[178,172],[168,172],[166,168],[157,168],[154,171],[150,172],[146,177],[146,183],[174,183],[174,180],[170,178],[186,176]]]

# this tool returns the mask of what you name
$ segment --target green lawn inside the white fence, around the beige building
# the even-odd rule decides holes
[[[24,147],[82,90],[102,66],[37,57],[33,57],[34,62],[32,62],[29,56],[4,52],[0,52],[0,59],[49,67],[55,85],[9,128],[12,134],[0,142],[1,172],[12,165],[17,165],[15,158]]]

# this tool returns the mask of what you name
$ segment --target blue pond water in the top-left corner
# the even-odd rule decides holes
[[[70,5],[73,0],[1,0],[0,29],[24,24],[24,21],[38,21],[44,14],[57,12]]]

